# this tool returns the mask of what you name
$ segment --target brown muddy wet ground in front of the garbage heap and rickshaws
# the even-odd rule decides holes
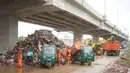
[[[81,65],[64,65],[56,66],[51,69],[47,68],[17,68],[17,67],[0,67],[0,73],[71,73],[79,68],[86,66]]]

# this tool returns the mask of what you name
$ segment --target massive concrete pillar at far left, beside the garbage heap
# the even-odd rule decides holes
[[[12,16],[0,17],[0,53],[13,49],[18,38],[18,20]]]

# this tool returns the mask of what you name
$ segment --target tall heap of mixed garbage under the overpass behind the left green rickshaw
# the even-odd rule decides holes
[[[34,34],[28,35],[24,40],[16,43],[13,50],[8,50],[6,54],[0,54],[0,65],[17,65],[18,51],[22,48],[23,65],[39,66],[40,61],[38,55],[44,44],[53,44],[61,50],[65,46],[64,42],[60,41],[52,31],[36,30]],[[27,53],[33,52],[35,58],[28,58]]]

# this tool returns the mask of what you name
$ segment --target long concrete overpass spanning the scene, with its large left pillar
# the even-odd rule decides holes
[[[74,39],[81,39],[83,34],[93,35],[95,42],[99,36],[111,34],[120,41],[128,39],[84,0],[0,0],[0,3],[0,51],[14,46],[19,20],[58,31],[73,31]]]

